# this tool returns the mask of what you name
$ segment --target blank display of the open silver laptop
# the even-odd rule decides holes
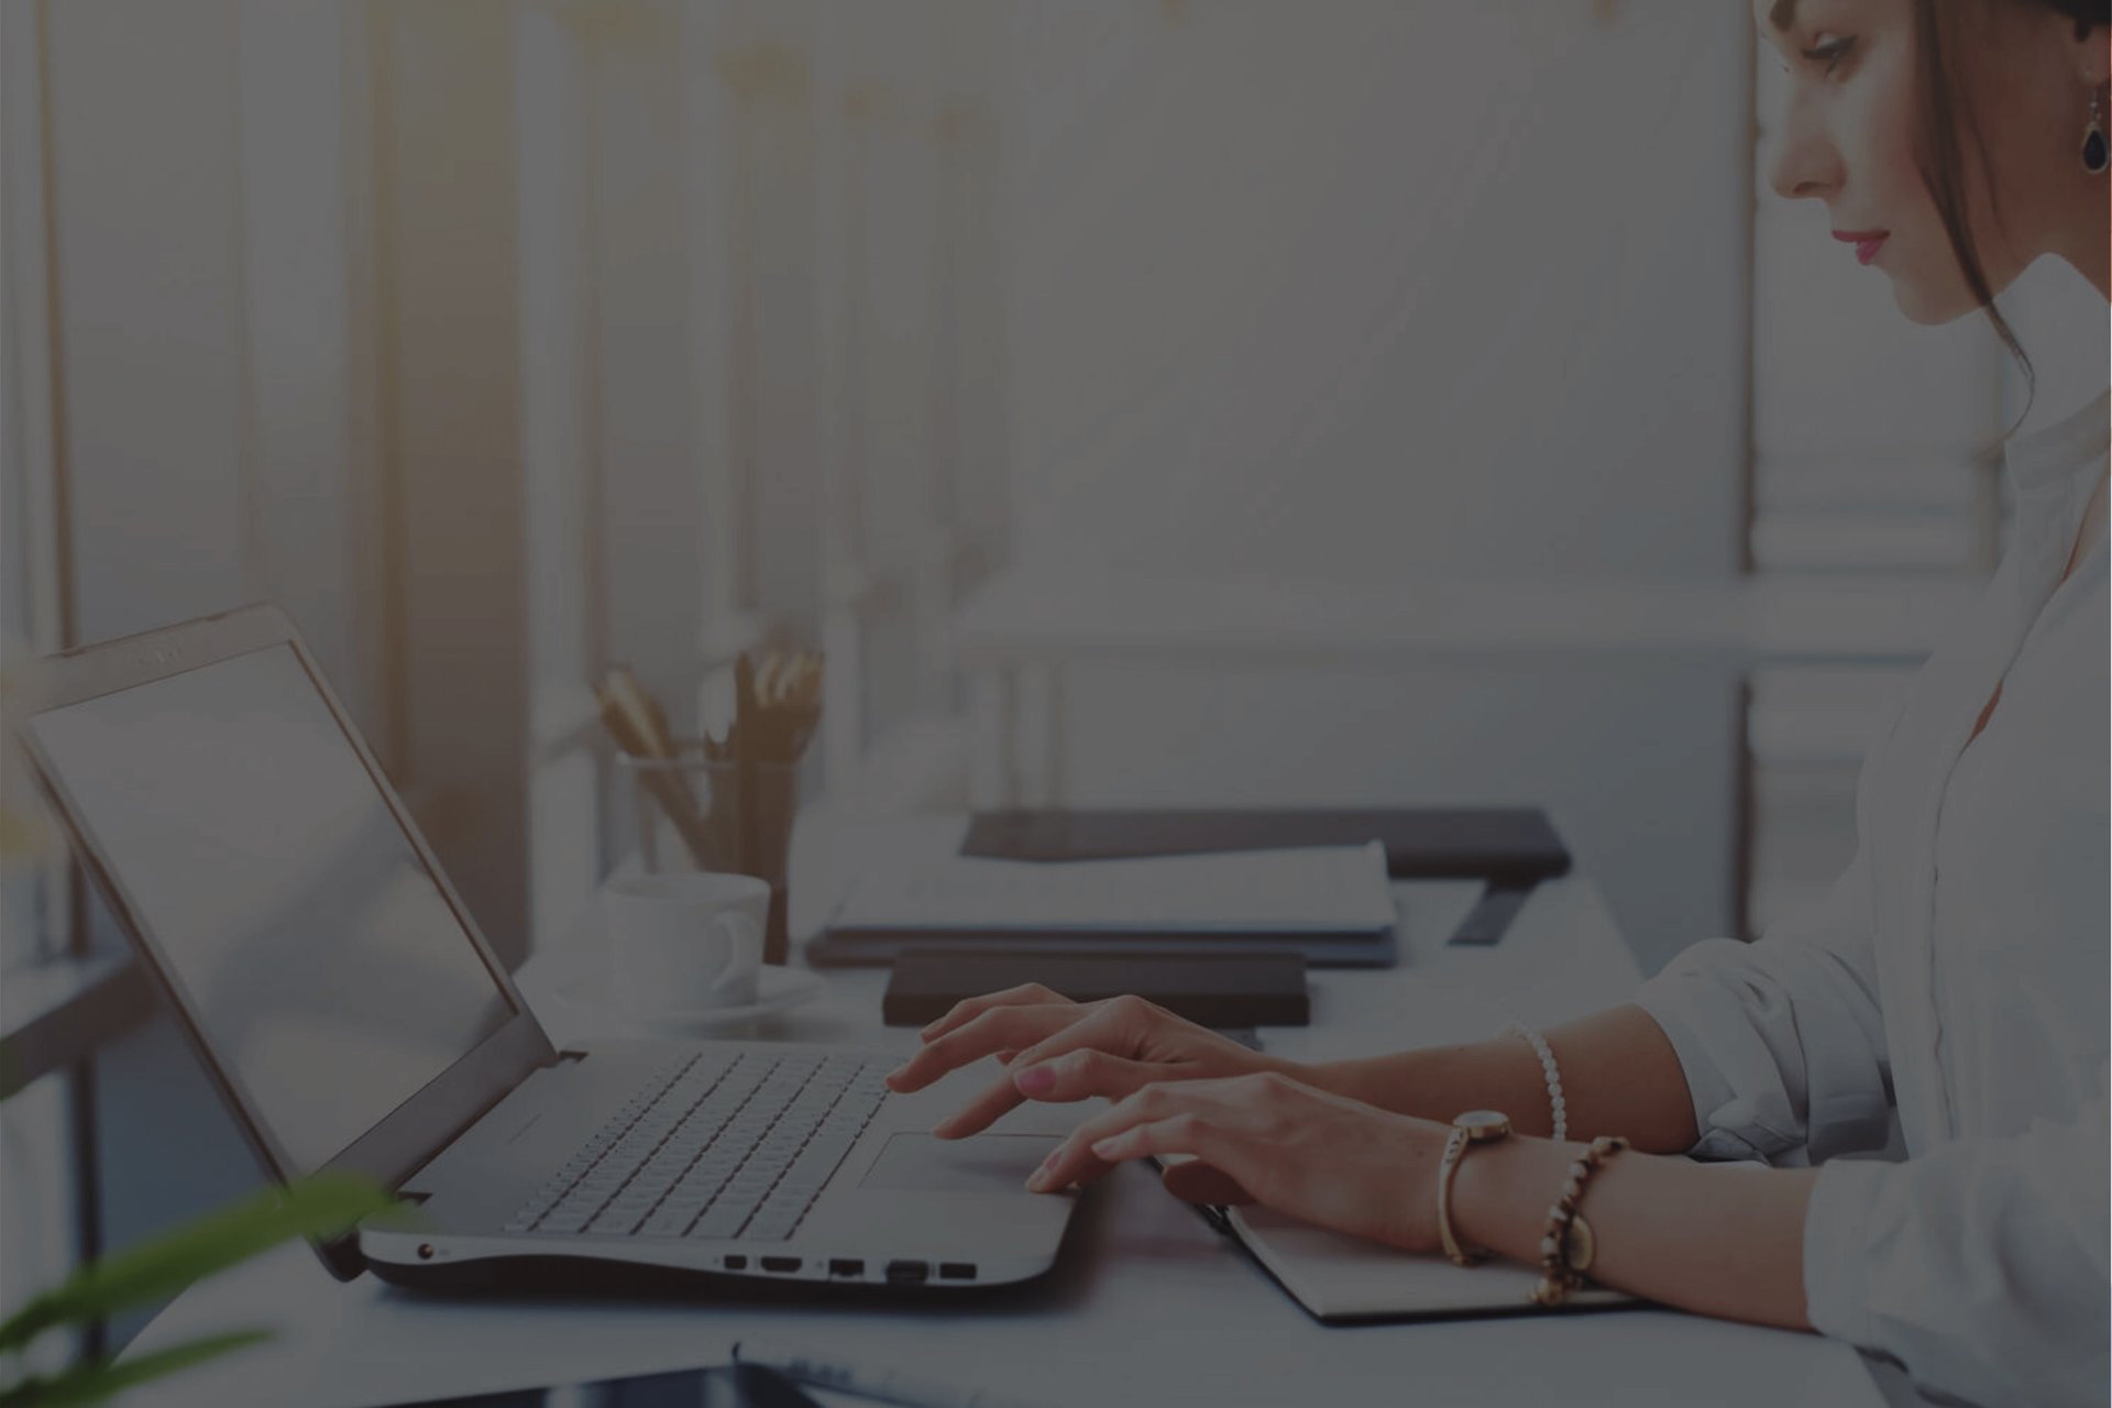
[[[291,646],[63,705],[30,730],[298,1169],[513,1015]]]

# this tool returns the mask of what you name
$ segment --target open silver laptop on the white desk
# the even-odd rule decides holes
[[[940,1292],[1054,1264],[1075,1199],[1022,1184],[1060,1110],[944,1142],[959,1087],[887,1093],[898,1055],[553,1047],[277,608],[53,657],[27,695],[34,766],[266,1172],[418,1205],[319,1245],[334,1273]]]

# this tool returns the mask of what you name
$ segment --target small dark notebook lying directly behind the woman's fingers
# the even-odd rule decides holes
[[[1305,1026],[1305,958],[1290,952],[1077,954],[1035,948],[910,948],[895,958],[881,1015],[923,1026],[955,1003],[1020,984],[1041,984],[1077,1003],[1134,992],[1202,1026]]]

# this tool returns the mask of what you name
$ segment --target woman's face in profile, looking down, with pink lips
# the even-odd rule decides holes
[[[2074,179],[2061,163],[2076,165],[2059,133],[2072,127],[2080,144],[2089,99],[2061,51],[2068,21],[2051,6],[1939,2],[1947,2],[1947,38],[1983,148],[1960,131],[1973,236],[2000,291],[2047,249],[2055,192]],[[1776,194],[1825,201],[1842,258],[1882,270],[1916,323],[1973,312],[1977,300],[1916,158],[1922,118],[1909,0],[1755,0],[1753,15],[1761,42],[1789,70],[1768,167]],[[1987,171],[1996,173],[1992,201]]]

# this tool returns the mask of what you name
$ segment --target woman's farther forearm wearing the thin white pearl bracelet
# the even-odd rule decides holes
[[[1561,1066],[1571,1138],[1624,1134],[1656,1153],[1681,1153],[1700,1138],[1679,1055],[1641,1007],[1609,1007],[1544,1036]],[[1516,1036],[1324,1062],[1293,1074],[1400,1115],[1449,1121],[1459,1110],[1502,1110],[1521,1134],[1554,1129],[1540,1058]]]

